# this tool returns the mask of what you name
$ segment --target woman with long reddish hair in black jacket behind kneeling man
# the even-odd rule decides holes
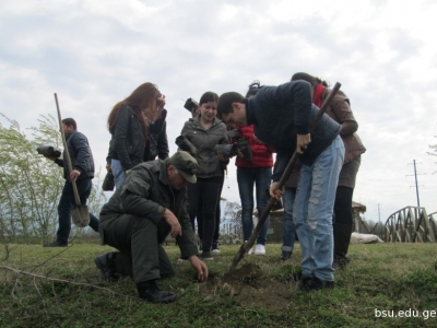
[[[108,117],[111,134],[108,157],[116,188],[120,187],[126,174],[137,164],[156,155],[168,157],[166,114],[162,116],[164,105],[165,96],[155,84],[146,82],[111,109]]]

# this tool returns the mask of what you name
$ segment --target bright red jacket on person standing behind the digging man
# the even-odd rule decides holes
[[[253,138],[253,126],[238,127],[238,132],[243,138],[249,140],[252,150],[252,161],[246,162],[240,157],[235,160],[235,166],[245,168],[273,167],[273,149],[264,143],[256,141]]]

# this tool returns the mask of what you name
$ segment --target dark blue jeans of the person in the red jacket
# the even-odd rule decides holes
[[[253,230],[253,184],[256,186],[258,215],[261,216],[269,201],[265,190],[269,189],[271,179],[272,168],[270,167],[237,167],[238,190],[241,199],[243,237],[245,241],[249,239]],[[270,215],[267,216],[262,225],[257,244],[265,245],[269,225]]]

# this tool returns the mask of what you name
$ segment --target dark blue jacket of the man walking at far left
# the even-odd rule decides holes
[[[72,131],[66,136],[67,147],[70,154],[73,169],[78,169],[81,175],[78,180],[94,177],[94,160],[90,149],[88,140],[79,131]],[[56,159],[55,163],[63,167],[63,177],[69,179],[70,169],[67,163],[66,151],[62,153],[62,160]]]

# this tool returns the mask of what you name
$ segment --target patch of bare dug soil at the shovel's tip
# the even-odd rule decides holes
[[[233,272],[210,277],[201,292],[211,297],[231,296],[247,307],[279,312],[288,297],[290,282],[265,277],[256,263],[245,263]]]

